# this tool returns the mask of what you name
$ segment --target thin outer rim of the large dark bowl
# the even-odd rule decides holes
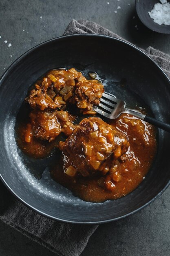
[[[38,49],[40,46],[45,45],[46,43],[50,43],[53,42],[55,40],[63,40],[64,38],[76,38],[76,37],[100,37],[100,38],[107,38],[110,40],[115,40],[118,42],[121,42],[125,45],[128,45],[129,47],[132,47],[133,49],[137,50],[138,52],[140,52],[141,54],[145,55],[147,58],[150,59],[150,61],[161,71],[161,73],[163,74],[163,76],[167,79],[169,85],[170,85],[170,79],[168,78],[168,76],[165,74],[165,72],[163,72],[163,70],[161,69],[161,67],[159,67],[159,65],[152,60],[152,58],[150,58],[150,56],[148,56],[144,51],[142,51],[141,49],[139,49],[138,47],[136,47],[135,45],[132,45],[129,42],[126,42],[124,40],[118,39],[118,38],[113,38],[110,36],[105,36],[105,35],[100,35],[100,34],[72,34],[72,35],[67,35],[67,36],[60,36],[57,38],[52,38],[50,40],[46,40],[43,43],[40,43],[34,47],[32,47],[31,49],[29,49],[28,51],[26,51],[24,54],[22,54],[20,57],[18,57],[8,68],[7,70],[4,72],[4,74],[2,74],[2,76],[0,77],[0,90],[2,87],[2,83],[3,80],[5,79],[5,77],[9,74],[10,70],[12,67],[14,67],[15,65],[18,64],[19,61],[22,60],[22,58],[24,58],[25,56],[27,56],[29,53],[31,53],[33,50]],[[50,218],[52,220],[57,220],[57,221],[61,221],[61,222],[66,222],[66,223],[72,223],[72,224],[85,224],[85,225],[98,225],[98,224],[104,224],[104,223],[108,223],[108,222],[113,222],[113,221],[117,221],[117,220],[121,220],[124,219],[128,216],[131,216],[134,213],[137,213],[138,211],[140,211],[141,209],[144,209],[145,207],[147,207],[151,202],[155,201],[170,185],[170,180],[167,182],[166,186],[164,186],[164,188],[155,196],[153,197],[150,201],[148,201],[146,204],[142,205],[141,207],[135,209],[134,211],[131,211],[130,213],[126,213],[122,216],[119,216],[117,218],[109,218],[107,220],[98,220],[98,221],[75,221],[75,220],[67,220],[62,219],[62,218],[57,218],[54,217],[50,214],[44,213],[43,211],[31,206],[30,203],[26,202],[24,199],[22,199],[19,195],[17,195],[13,189],[7,184],[7,182],[4,180],[2,174],[1,174],[1,170],[0,170],[0,180],[2,180],[2,183],[7,187],[7,189],[9,189],[9,191],[18,199],[20,200],[22,203],[24,203],[26,205],[26,207],[28,207],[29,209],[32,209],[33,211],[41,214],[42,216],[45,216],[46,218]]]

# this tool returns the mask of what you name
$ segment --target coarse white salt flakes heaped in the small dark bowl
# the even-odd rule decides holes
[[[159,25],[170,25],[170,3],[167,0],[160,0],[161,3],[154,5],[152,11],[149,11],[150,18]]]

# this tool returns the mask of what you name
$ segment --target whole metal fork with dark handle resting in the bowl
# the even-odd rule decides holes
[[[109,94],[108,92],[104,92],[102,98],[100,99],[99,105],[95,106],[94,110],[98,114],[104,117],[108,117],[109,119],[116,119],[117,117],[119,117],[119,115],[121,115],[121,113],[127,113],[150,124],[153,124],[163,130],[166,130],[167,132],[170,132],[170,124],[166,124],[153,117],[143,115],[137,110],[126,108],[125,101],[117,99],[114,95]]]

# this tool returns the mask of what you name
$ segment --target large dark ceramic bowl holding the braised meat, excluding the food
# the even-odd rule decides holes
[[[73,66],[85,75],[98,72],[106,78],[105,90],[124,99],[129,107],[148,107],[157,119],[170,121],[170,81],[144,52],[107,36],[55,38],[23,54],[0,79],[0,177],[28,207],[54,220],[84,224],[119,220],[146,207],[170,184],[168,132],[159,130],[157,157],[140,186],[124,198],[104,203],[75,197],[51,179],[46,168],[51,158],[26,157],[15,142],[16,115],[29,86],[49,69]],[[122,79],[126,79],[123,87]]]

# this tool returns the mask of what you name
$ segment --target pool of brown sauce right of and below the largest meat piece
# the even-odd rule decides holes
[[[126,120],[125,122],[124,118],[127,118],[128,121]],[[68,158],[64,155],[60,156],[59,163],[51,170],[53,179],[73,191],[79,198],[88,202],[115,200],[136,189],[150,169],[157,145],[153,126],[142,122],[144,125],[143,133],[139,127],[139,130],[137,130],[137,127],[132,126],[130,120],[135,123],[139,119],[122,114],[118,119],[111,122],[113,126],[127,134],[130,144],[127,152],[130,161],[126,162],[125,166],[123,166],[123,163],[120,163],[119,173],[121,174],[121,180],[115,182],[114,190],[108,191],[99,186],[99,176],[82,177],[77,175],[71,178],[66,175],[64,168],[61,167],[69,165]],[[139,124],[140,122],[139,120]]]

